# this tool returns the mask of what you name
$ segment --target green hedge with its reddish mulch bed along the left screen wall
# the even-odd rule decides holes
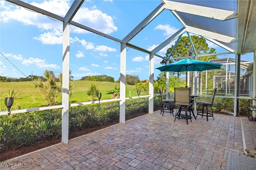
[[[154,97],[154,110],[161,99]],[[148,113],[148,98],[126,101],[126,120]],[[119,102],[71,107],[69,139],[119,123]],[[0,161],[61,140],[61,109],[0,117]]]

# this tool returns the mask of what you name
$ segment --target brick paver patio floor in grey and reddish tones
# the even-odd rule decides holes
[[[228,152],[243,154],[243,143],[253,150],[255,134],[256,122],[245,117],[198,116],[186,125],[156,111],[6,160],[0,169],[224,170]]]

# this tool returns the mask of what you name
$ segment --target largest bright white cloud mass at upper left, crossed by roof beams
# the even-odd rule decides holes
[[[62,17],[66,15],[71,6],[70,0],[34,1],[30,4]],[[32,25],[42,30],[48,30],[48,32],[35,37],[35,39],[42,41],[44,44],[62,43],[62,36],[56,34],[56,30],[62,30],[63,24],[61,21],[37,12],[32,12],[21,6],[7,5],[5,1],[1,1],[1,8],[0,22],[16,20],[24,25]],[[80,8],[74,16],[73,21],[105,34],[111,34],[118,29],[114,25],[114,21],[111,16],[108,16],[97,9],[89,10],[85,7]],[[75,26],[70,27],[70,32],[90,33]]]

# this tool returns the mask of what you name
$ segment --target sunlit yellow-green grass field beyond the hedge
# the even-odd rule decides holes
[[[89,96],[86,94],[91,84],[95,84],[96,87],[102,93],[100,100],[111,99],[111,94],[106,94],[107,91],[113,90],[115,86],[120,87],[120,83],[113,82],[104,82],[104,81],[72,81],[74,84],[74,95],[70,97],[69,103],[80,103],[90,101]],[[14,100],[14,105],[20,104],[22,109],[42,107],[46,106],[45,101],[41,97],[41,92],[39,89],[36,89],[32,82],[22,81],[22,82],[0,82],[0,107],[6,109],[4,105],[4,96],[3,93],[6,93],[7,90],[14,91],[18,90],[20,95],[18,99]],[[137,91],[135,85],[126,85],[126,97],[137,96]],[[141,94],[148,95],[148,94]],[[36,97],[36,101],[33,100],[33,97]],[[98,100],[98,98],[96,98]],[[59,99],[58,105],[61,104],[61,97]],[[14,106],[13,105],[13,106]],[[12,108],[13,109],[13,108]]]

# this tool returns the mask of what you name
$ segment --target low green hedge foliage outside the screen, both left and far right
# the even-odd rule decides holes
[[[234,112],[234,99],[216,97],[214,101],[215,111]],[[159,110],[161,105],[160,96],[154,97],[154,111]],[[147,112],[148,98],[126,101],[126,117]],[[246,99],[240,99],[240,115],[248,116],[248,100]],[[0,152],[60,138],[61,116],[61,109],[0,116]],[[69,132],[106,125],[116,120],[119,120],[119,102],[71,107],[69,109]]]

